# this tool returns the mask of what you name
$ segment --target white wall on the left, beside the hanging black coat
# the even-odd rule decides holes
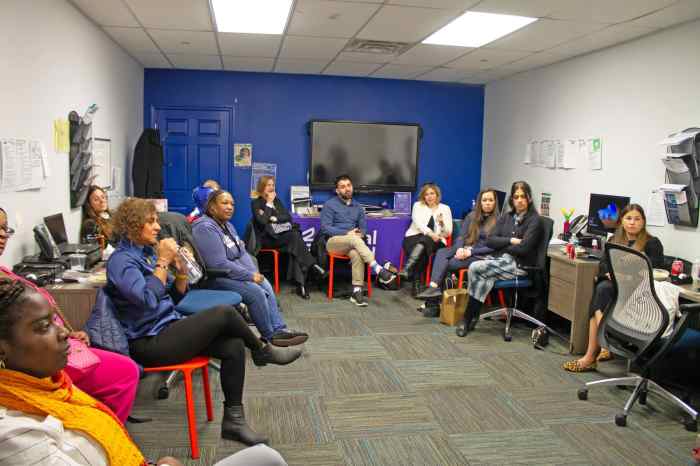
[[[37,251],[32,228],[62,212],[77,241],[80,209],[70,209],[68,155],[52,148],[53,120],[99,105],[93,136],[112,140],[121,167],[115,196],[123,196],[129,154],[143,128],[143,68],[65,0],[0,2],[0,137],[40,139],[51,177],[41,190],[0,193],[17,234],[0,259],[14,264]]]

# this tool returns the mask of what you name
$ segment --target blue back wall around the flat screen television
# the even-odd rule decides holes
[[[146,69],[144,124],[158,106],[233,108],[231,144],[252,143],[253,162],[277,164],[277,192],[289,207],[289,187],[306,185],[312,119],[418,123],[423,128],[418,185],[442,189],[443,202],[461,215],[471,208],[481,179],[484,88],[454,83],[277,73]],[[250,169],[234,168],[234,224],[250,219]],[[332,193],[312,193],[322,203]],[[414,193],[414,199],[415,195]],[[363,203],[392,195],[358,195]]]

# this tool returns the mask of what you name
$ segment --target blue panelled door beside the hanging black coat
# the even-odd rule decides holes
[[[151,124],[163,144],[163,185],[168,210],[187,215],[192,189],[213,179],[229,186],[233,163],[229,131],[230,109],[155,107]]]

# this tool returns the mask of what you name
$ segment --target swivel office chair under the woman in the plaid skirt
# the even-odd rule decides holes
[[[544,314],[547,311],[546,296],[549,283],[549,274],[547,273],[547,248],[549,247],[549,240],[552,239],[554,221],[549,217],[540,217],[540,221],[542,222],[542,239],[540,240],[540,244],[537,246],[537,264],[534,267],[524,268],[524,270],[527,272],[527,276],[522,278],[514,278],[512,280],[498,280],[493,287],[494,290],[515,290],[516,299],[514,306],[499,308],[495,311],[490,311],[480,316],[480,319],[489,319],[491,317],[498,317],[505,313],[506,327],[503,331],[503,339],[505,341],[511,341],[513,339],[513,336],[510,333],[511,321],[513,320],[513,317],[519,317],[520,319],[527,320],[538,327],[546,328],[547,331],[554,335],[561,336],[556,331],[547,327],[547,325],[542,321],[531,316],[530,314],[526,314],[516,307],[518,302],[518,294],[522,293],[526,297],[533,297],[535,299],[534,313],[537,317],[544,318]]]

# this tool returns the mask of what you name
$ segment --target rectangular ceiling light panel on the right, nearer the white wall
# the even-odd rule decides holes
[[[481,47],[534,21],[537,18],[468,11],[433,33],[423,43]]]

